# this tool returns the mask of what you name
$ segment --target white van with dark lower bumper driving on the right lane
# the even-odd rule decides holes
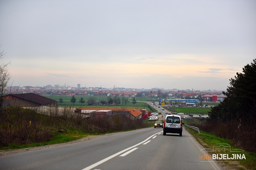
[[[164,135],[166,133],[178,133],[182,136],[182,125],[184,123],[179,115],[166,115],[164,119]]]

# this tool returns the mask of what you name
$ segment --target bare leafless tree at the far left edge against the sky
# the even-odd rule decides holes
[[[0,49],[0,59],[4,57],[4,54],[6,54],[6,53],[4,53],[4,50],[2,51]],[[9,81],[12,77],[7,68],[8,64],[10,64],[10,63],[11,62],[9,62],[7,64],[3,63],[0,65],[0,113],[1,114],[2,114],[2,110],[3,110],[4,96],[6,96],[6,94],[7,94],[7,87],[9,85]]]

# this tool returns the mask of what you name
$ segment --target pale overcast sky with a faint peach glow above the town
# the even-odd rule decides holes
[[[226,90],[256,58],[255,0],[1,0],[12,85]]]

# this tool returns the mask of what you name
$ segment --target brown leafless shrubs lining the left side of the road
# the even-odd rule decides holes
[[[5,107],[0,115],[0,145],[47,142],[68,128],[103,134],[144,127],[142,120],[131,120],[122,113],[93,118],[74,113],[72,107]]]

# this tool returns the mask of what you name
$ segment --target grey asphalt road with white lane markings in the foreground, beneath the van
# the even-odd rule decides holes
[[[202,149],[185,128],[180,137],[151,127],[3,156],[0,169],[221,169]]]

